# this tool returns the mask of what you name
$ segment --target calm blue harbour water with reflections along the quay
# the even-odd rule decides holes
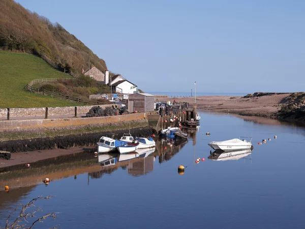
[[[0,225],[18,203],[54,195],[37,206],[61,213],[37,228],[304,228],[305,129],[245,119],[201,113],[201,126],[186,144],[158,142],[149,156],[116,158],[113,166],[85,156],[0,175],[1,185],[20,187],[0,191]],[[245,134],[253,136],[252,154],[208,159],[209,141]],[[198,157],[206,160],[195,164]],[[177,173],[180,164],[188,165],[184,175]],[[45,177],[53,179],[47,186]]]

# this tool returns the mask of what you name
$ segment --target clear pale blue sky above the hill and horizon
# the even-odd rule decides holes
[[[305,91],[305,1],[16,0],[146,92]]]

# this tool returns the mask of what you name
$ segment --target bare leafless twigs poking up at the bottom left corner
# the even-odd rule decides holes
[[[52,213],[46,214],[44,216],[41,216],[38,219],[36,219],[35,221],[33,221],[32,223],[29,223],[27,221],[30,218],[36,217],[35,214],[37,212],[41,211],[41,209],[37,208],[36,210],[34,210],[32,212],[28,212],[28,213],[26,212],[26,210],[31,207],[36,207],[34,205],[34,203],[36,201],[38,201],[39,199],[50,199],[50,198],[52,198],[52,196],[45,196],[45,197],[38,196],[37,198],[32,199],[32,201],[28,202],[26,205],[22,205],[22,204],[18,205],[8,216],[4,229],[17,229],[17,228],[31,229],[37,222],[43,222],[43,220],[48,217],[51,217],[55,220],[56,214],[58,214],[58,212],[52,212]],[[21,208],[21,210],[20,210],[18,217],[14,221],[9,222],[11,220],[13,214],[15,212],[17,212],[17,210],[20,208]],[[31,224],[31,225],[26,226],[26,224]]]

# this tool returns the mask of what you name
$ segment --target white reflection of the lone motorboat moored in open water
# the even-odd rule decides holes
[[[213,161],[227,161],[227,160],[238,160],[243,157],[247,157],[252,154],[252,150],[236,150],[230,152],[214,151],[210,152],[208,159]]]

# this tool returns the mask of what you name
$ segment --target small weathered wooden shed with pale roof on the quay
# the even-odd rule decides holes
[[[128,98],[128,111],[147,112],[155,109],[155,96],[147,93],[134,93]]]

